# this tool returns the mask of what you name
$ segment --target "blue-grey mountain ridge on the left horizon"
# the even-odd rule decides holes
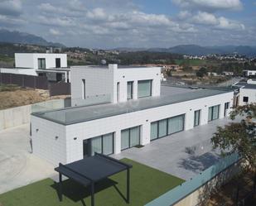
[[[54,43],[46,41],[41,36],[31,35],[29,33],[20,31],[8,31],[5,29],[0,30],[0,41],[4,43],[18,43],[36,46],[53,46],[53,47],[65,47],[60,43]]]

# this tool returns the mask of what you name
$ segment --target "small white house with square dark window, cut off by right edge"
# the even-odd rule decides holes
[[[249,103],[256,103],[256,80],[248,79],[247,82],[239,82],[233,86],[239,87],[237,95],[238,105],[243,106]]]

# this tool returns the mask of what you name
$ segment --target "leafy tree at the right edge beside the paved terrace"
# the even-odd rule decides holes
[[[224,155],[238,153],[248,163],[244,164],[245,168],[256,172],[256,103],[235,108],[230,119],[238,117],[242,117],[240,122],[218,127],[211,142]]]

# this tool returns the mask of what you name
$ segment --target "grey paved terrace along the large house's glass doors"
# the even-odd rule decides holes
[[[114,157],[136,160],[181,179],[189,180],[220,159],[218,155],[220,152],[211,151],[210,138],[217,126],[224,126],[228,122],[230,120],[227,118],[215,120],[207,125],[157,139],[147,146],[122,151]],[[186,147],[189,146],[197,147],[196,154],[187,153]]]

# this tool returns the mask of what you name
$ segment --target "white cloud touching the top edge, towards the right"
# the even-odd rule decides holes
[[[189,9],[215,11],[215,10],[240,10],[243,3],[240,0],[172,0],[180,7]]]

